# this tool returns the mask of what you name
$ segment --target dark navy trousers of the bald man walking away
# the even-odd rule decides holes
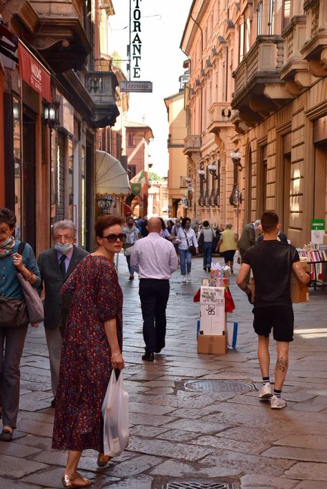
[[[141,278],[139,298],[143,316],[143,338],[146,353],[164,348],[166,337],[166,306],[169,298],[169,280]]]

